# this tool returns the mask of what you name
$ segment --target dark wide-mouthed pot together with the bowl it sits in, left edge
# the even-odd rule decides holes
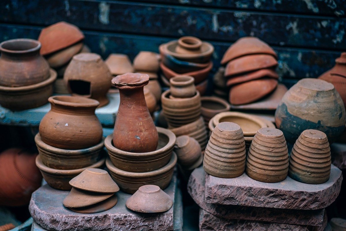
[[[34,39],[11,39],[0,43],[0,104],[11,110],[42,106],[53,94],[56,72],[40,55]]]

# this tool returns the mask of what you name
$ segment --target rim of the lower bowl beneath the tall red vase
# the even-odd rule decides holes
[[[128,171],[121,170],[121,169],[119,169],[113,165],[110,158],[107,158],[106,166],[113,174],[116,174],[116,175],[119,175],[122,177],[126,177],[126,178],[136,178],[137,179],[137,178],[149,178],[149,177],[158,176],[158,175],[162,175],[166,172],[169,172],[170,170],[172,170],[174,168],[176,162],[177,162],[176,154],[174,152],[172,152],[171,159],[167,163],[167,165],[163,166],[162,168],[159,168],[159,169],[156,169],[153,171],[149,171],[149,172],[128,172]]]

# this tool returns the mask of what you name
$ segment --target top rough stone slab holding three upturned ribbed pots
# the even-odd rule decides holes
[[[325,208],[339,195],[343,176],[331,165],[330,178],[319,185],[304,184],[287,177],[263,183],[244,174],[236,178],[206,175],[205,201],[224,205],[316,210]]]

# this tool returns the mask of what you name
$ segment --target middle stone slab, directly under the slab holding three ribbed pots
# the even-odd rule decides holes
[[[196,204],[203,210],[222,218],[266,221],[275,223],[301,224],[321,226],[325,209],[319,210],[292,210],[285,208],[265,208],[239,205],[222,205],[206,203],[204,201],[204,182],[206,172],[203,167],[193,170],[189,182],[188,192]]]

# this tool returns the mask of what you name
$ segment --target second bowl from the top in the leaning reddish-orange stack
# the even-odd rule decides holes
[[[225,76],[242,74],[264,68],[274,68],[276,59],[268,54],[253,54],[239,57],[226,65]]]

